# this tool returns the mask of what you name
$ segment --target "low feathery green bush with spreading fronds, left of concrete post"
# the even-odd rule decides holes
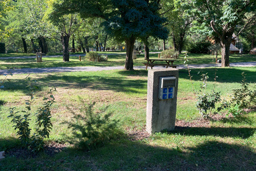
[[[84,103],[84,102],[83,102]],[[94,103],[86,104],[80,108],[80,114],[70,110],[74,117],[69,122],[69,128],[73,129],[73,139],[79,148],[93,148],[103,145],[117,136],[118,120],[111,120],[111,113],[105,113],[106,108],[95,111]]]

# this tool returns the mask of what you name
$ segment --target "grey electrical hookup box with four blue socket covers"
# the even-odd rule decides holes
[[[176,87],[176,77],[160,77],[158,99],[173,99]]]

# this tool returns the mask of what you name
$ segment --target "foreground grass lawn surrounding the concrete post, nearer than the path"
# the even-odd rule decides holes
[[[119,58],[119,57],[116,57]],[[194,86],[200,90],[200,69],[191,69]],[[256,80],[256,67],[218,68],[216,91],[227,97],[240,86],[241,73],[247,74],[250,87]],[[214,88],[215,68],[208,72],[208,90]],[[187,70],[179,71],[177,122],[187,124],[202,122],[195,107],[195,96]],[[39,153],[31,157],[10,156],[20,149],[20,142],[13,130],[8,109],[25,108],[28,88],[26,75],[14,75],[5,82],[0,93],[0,151],[7,156],[0,161],[0,170],[256,170],[256,112],[251,110],[242,117],[205,121],[207,127],[177,128],[169,133],[145,134],[147,71],[106,70],[95,72],[57,72],[31,74],[40,88],[32,113],[40,106],[41,99],[56,86],[56,102],[52,108],[53,130],[49,144],[66,146],[54,155]],[[1,76],[0,79],[2,79]],[[255,87],[254,87],[255,88]],[[108,107],[112,119],[119,119],[121,132],[98,148],[81,150],[70,144],[72,128],[67,122],[73,115],[68,109],[78,111],[79,99],[96,102],[96,109]],[[255,109],[255,106],[251,106]],[[31,116],[31,123],[35,116]],[[31,124],[32,132],[35,129]],[[135,138],[133,134],[141,138]],[[16,149],[15,149],[16,148]],[[18,148],[18,149],[17,149]]]

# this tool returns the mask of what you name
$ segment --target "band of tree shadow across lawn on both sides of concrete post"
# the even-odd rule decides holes
[[[248,68],[247,68],[248,69]],[[200,69],[191,69],[191,73],[193,75],[193,81],[199,81],[201,77],[197,75],[197,72]],[[242,80],[242,68],[218,68],[218,78],[217,82],[238,82],[240,83]],[[71,87],[71,88],[90,88],[96,90],[113,90],[117,92],[133,92],[138,93],[141,89],[146,89],[147,86],[147,71],[146,70],[133,70],[133,71],[125,71],[120,70],[118,71],[118,76],[113,76],[112,74],[104,74],[104,72],[100,73],[101,71],[90,72],[77,72],[76,75],[73,72],[69,72],[65,75],[63,74],[54,74],[49,73],[45,76],[42,76],[37,80],[41,83],[42,87]],[[209,79],[208,81],[214,81],[214,68],[205,68],[203,72],[208,72]],[[247,82],[254,83],[256,80],[256,73],[254,71],[247,70],[245,72]],[[189,79],[187,70],[180,69],[179,71],[179,78]],[[26,76],[24,76],[25,78]],[[129,77],[129,78],[126,78]],[[138,78],[136,78],[138,77]],[[140,78],[144,77],[144,78]],[[134,79],[133,79],[134,78]],[[22,91],[27,92],[25,86],[23,86],[23,80],[12,80],[11,83],[8,84],[9,90],[17,90],[20,89]]]

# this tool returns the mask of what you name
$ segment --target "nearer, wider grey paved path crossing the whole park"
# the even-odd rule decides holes
[[[199,64],[188,65],[189,68],[205,68],[205,67],[220,67],[221,64]],[[246,67],[256,66],[256,62],[237,62],[230,63],[230,67]],[[177,67],[178,69],[184,69],[184,65]],[[51,67],[51,68],[22,68],[12,70],[12,74],[32,74],[32,73],[46,73],[46,72],[75,72],[75,71],[98,71],[98,70],[112,70],[112,69],[124,69],[124,66],[77,66],[77,67]],[[145,69],[145,66],[135,66],[134,69]],[[155,66],[154,69],[164,69],[162,66]],[[0,74],[7,74],[8,70],[0,70]]]

